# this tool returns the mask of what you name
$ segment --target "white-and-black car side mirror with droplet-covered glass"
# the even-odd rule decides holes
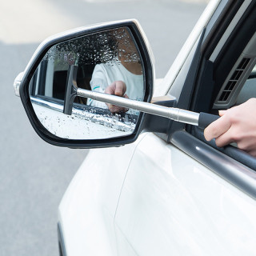
[[[118,96],[150,102],[150,53],[135,20],[83,27],[42,42],[14,85],[34,130],[46,142],[74,148],[120,146],[138,137],[145,114],[85,95],[115,94],[125,87]]]

